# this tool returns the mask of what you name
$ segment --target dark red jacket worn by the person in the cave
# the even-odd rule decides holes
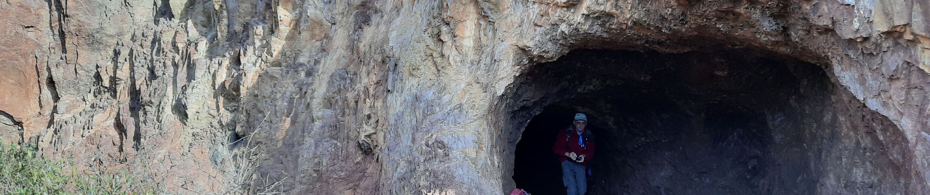
[[[565,136],[566,132],[571,131],[570,137],[567,139]],[[581,147],[578,144],[578,136],[581,136],[584,147]],[[591,130],[585,129],[581,135],[578,135],[578,131],[574,127],[568,127],[562,129],[559,132],[559,137],[555,138],[555,145],[552,146],[552,152],[555,152],[556,155],[561,156],[559,162],[565,162],[568,159],[568,156],[565,156],[565,152],[575,152],[578,155],[584,154],[584,162],[581,165],[588,167],[588,162],[591,162],[591,159],[594,158],[594,135],[591,134]]]

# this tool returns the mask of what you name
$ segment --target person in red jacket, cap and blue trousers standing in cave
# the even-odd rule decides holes
[[[578,113],[571,126],[555,139],[552,152],[561,156],[562,182],[568,195],[583,195],[588,190],[588,162],[594,157],[594,135],[587,129],[588,116]]]

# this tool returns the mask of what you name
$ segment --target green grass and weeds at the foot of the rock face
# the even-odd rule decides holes
[[[78,173],[68,158],[46,159],[34,146],[0,142],[0,194],[154,194],[129,173]]]

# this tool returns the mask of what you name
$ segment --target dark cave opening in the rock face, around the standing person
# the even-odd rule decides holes
[[[588,194],[817,194],[850,185],[844,162],[896,165],[903,150],[879,141],[903,141],[900,130],[823,67],[748,49],[580,50],[527,70],[509,94],[508,176],[533,194],[565,194],[551,147],[575,113],[597,136]],[[901,174],[870,172],[855,185]]]

